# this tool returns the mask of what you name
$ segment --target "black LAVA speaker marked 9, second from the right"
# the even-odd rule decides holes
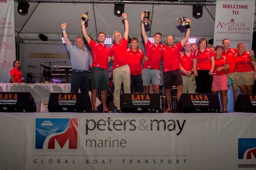
[[[218,113],[220,102],[218,94],[182,93],[178,103],[179,113]]]

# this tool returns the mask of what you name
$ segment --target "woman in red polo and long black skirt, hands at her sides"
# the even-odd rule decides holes
[[[212,93],[214,53],[207,47],[205,38],[201,38],[197,43],[199,49],[193,55],[193,67],[196,80],[196,92]]]

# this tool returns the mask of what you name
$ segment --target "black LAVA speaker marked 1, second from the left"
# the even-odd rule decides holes
[[[87,93],[51,93],[49,112],[92,112],[92,103]]]

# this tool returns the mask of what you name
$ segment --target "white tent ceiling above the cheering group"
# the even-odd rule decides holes
[[[38,34],[43,33],[51,40],[60,40],[61,23],[67,23],[67,32],[71,40],[82,35],[80,17],[89,11],[86,24],[88,34],[95,40],[97,33],[103,31],[111,36],[114,31],[124,32],[123,18],[114,15],[114,1],[28,1],[28,14],[17,12],[18,2],[15,1],[15,31],[22,39],[39,40]],[[167,2],[167,3],[166,3]],[[215,1],[204,3],[203,16],[192,17],[193,3],[164,1],[124,1],[124,11],[129,21],[129,36],[141,38],[140,15],[143,11],[153,11],[152,23],[146,26],[148,36],[156,32],[163,34],[162,42],[168,35],[173,35],[180,41],[185,34],[185,26],[181,26],[176,18],[186,16],[191,19],[191,37],[213,38]],[[212,16],[211,16],[212,15]],[[60,41],[61,42],[61,41]],[[46,42],[47,43],[47,42]]]

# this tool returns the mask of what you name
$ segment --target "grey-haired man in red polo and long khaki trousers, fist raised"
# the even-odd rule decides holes
[[[115,43],[109,47],[108,56],[112,58],[113,62],[113,81],[114,81],[114,113],[120,112],[120,90],[122,82],[124,84],[124,92],[131,93],[130,84],[130,67],[127,59],[127,45],[128,45],[128,19],[126,13],[122,14],[124,18],[124,38],[121,41],[121,34],[116,31],[113,34]]]

